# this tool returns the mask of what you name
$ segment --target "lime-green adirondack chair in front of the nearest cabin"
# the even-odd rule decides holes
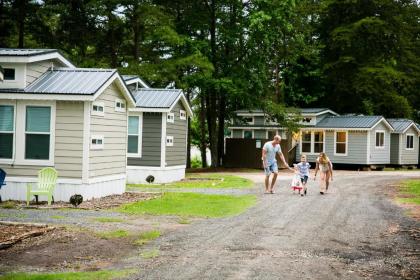
[[[36,189],[32,189],[32,184],[27,184],[26,190],[26,205],[29,205],[29,200],[32,195],[35,195],[36,203],[38,203],[38,195],[46,195],[48,197],[48,205],[51,205],[51,200],[54,202],[54,189],[57,182],[57,171],[52,167],[45,167],[38,172],[38,183]]]

